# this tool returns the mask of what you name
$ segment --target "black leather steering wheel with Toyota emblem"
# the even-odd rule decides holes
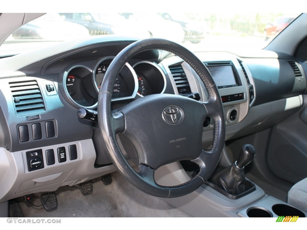
[[[115,79],[122,67],[136,54],[153,49],[172,52],[187,62],[199,75],[208,91],[208,102],[173,94],[153,94],[111,110]],[[206,117],[213,118],[212,149],[202,149],[202,128]],[[213,173],[225,140],[222,101],[204,64],[188,49],[164,40],[150,38],[128,45],[109,65],[99,91],[98,123],[108,154],[118,171],[136,188],[157,197],[180,197],[199,188]],[[123,156],[116,134],[121,133],[138,153],[136,172]],[[161,186],[154,180],[159,167],[180,160],[198,164],[198,174],[177,186]]]

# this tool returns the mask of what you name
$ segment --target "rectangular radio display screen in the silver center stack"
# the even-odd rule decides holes
[[[232,65],[207,66],[207,68],[219,89],[238,86]]]

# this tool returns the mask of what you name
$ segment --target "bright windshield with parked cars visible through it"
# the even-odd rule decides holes
[[[96,35],[164,38],[193,51],[262,49],[299,13],[47,13],[0,47],[20,50]],[[42,41],[44,42],[42,44]],[[29,44],[31,43],[31,44]]]

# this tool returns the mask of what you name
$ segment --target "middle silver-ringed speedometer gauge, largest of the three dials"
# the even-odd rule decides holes
[[[94,71],[94,82],[100,90],[104,75],[114,56],[107,56],[97,63]],[[137,76],[133,68],[126,63],[116,78],[113,86],[112,101],[134,98],[137,93]]]

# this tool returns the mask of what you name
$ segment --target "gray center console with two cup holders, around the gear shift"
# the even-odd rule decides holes
[[[155,173],[156,182],[165,186],[181,184],[190,178],[178,162],[163,166]],[[164,201],[193,217],[306,217],[307,213],[268,196],[257,184],[246,181],[253,185],[253,189],[247,187],[240,194],[233,195],[207,182],[191,194]]]

